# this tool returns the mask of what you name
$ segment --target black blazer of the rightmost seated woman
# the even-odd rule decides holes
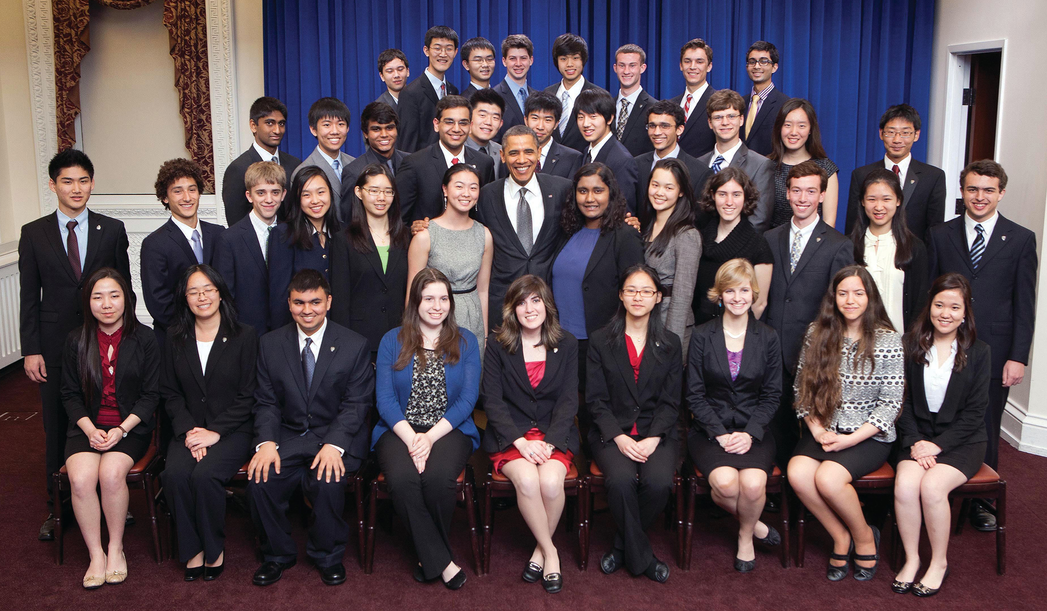
[[[937,414],[932,414],[927,406],[923,366],[906,359],[906,399],[895,424],[900,448],[925,440],[944,453],[959,445],[988,440],[985,409],[993,377],[989,351],[988,344],[975,341],[967,350],[966,367],[953,371],[950,376],[945,400]]]

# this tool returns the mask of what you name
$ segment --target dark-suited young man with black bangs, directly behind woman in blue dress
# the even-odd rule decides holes
[[[615,100],[602,91],[582,91],[575,103],[575,112],[578,131],[588,143],[582,166],[592,161],[610,168],[622,195],[625,196],[628,211],[637,214],[637,160],[611,131],[610,126],[615,125]]]

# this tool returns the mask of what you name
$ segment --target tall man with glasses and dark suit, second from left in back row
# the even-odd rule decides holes
[[[421,151],[437,143],[429,124],[437,116],[437,103],[458,95],[458,87],[447,82],[447,70],[458,54],[458,34],[446,25],[435,25],[425,32],[423,52],[429,65],[400,92],[400,149]]]

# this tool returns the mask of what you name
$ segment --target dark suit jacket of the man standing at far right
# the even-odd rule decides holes
[[[993,348],[993,378],[1007,361],[1029,363],[1035,322],[1037,236],[998,213],[981,266],[971,268],[963,216],[931,230],[927,244],[930,278],[946,271],[971,282],[978,336]]]

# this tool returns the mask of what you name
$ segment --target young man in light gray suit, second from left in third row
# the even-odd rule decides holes
[[[350,211],[348,206],[342,210],[340,201],[341,172],[356,158],[341,152],[349,133],[349,107],[337,97],[320,97],[309,107],[309,131],[316,136],[316,148],[291,174],[291,191],[294,192],[294,177],[303,168],[316,166],[324,170],[331,182],[331,205],[338,214],[338,221],[348,223]],[[298,205],[298,202],[290,204]]]

